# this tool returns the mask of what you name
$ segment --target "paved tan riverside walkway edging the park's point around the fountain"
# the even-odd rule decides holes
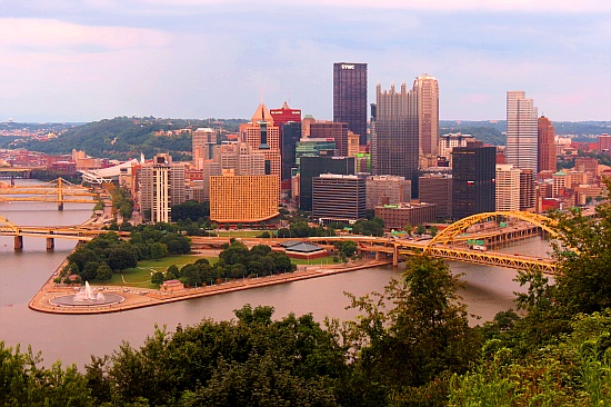
[[[143,307],[153,307],[163,304],[170,304],[176,301],[184,301],[192,298],[201,298],[208,296],[217,296],[220,294],[241,291],[252,288],[273,286],[279,284],[287,284],[293,281],[300,281],[311,278],[319,278],[324,276],[331,276],[342,272],[349,272],[354,270],[361,270],[371,267],[391,265],[392,261],[380,261],[373,259],[360,259],[351,261],[345,265],[329,265],[329,266],[304,266],[303,268],[282,275],[274,275],[259,278],[243,278],[226,284],[199,287],[199,288],[186,288],[174,292],[162,292],[160,290],[139,289],[133,287],[94,287],[98,292],[114,294],[123,298],[121,302],[112,305],[88,305],[88,306],[58,306],[51,302],[54,298],[63,296],[72,296],[77,291],[73,287],[60,287],[53,282],[56,275],[51,276],[49,280],[41,287],[36,296],[30,300],[29,308],[48,314],[71,314],[71,315],[88,315],[88,314],[107,314],[107,312],[121,312],[131,309],[138,309]],[[64,262],[60,265],[58,271],[64,266]]]

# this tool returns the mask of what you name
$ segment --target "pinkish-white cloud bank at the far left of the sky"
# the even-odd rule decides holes
[[[0,47],[21,51],[156,48],[171,36],[151,29],[82,26],[50,19],[0,19]]]

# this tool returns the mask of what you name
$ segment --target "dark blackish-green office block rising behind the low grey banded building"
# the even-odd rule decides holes
[[[299,163],[299,207],[312,210],[312,178],[321,173],[354,175],[354,157],[301,157]]]

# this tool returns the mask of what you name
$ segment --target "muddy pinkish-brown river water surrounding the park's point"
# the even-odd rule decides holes
[[[0,216],[18,225],[69,226],[87,220],[90,215],[91,207],[84,205],[67,205],[60,212],[54,204],[0,204]],[[14,252],[12,237],[0,237],[0,340],[8,346],[21,344],[22,349],[31,345],[34,353],[42,353],[44,366],[60,359],[63,365],[74,363],[82,368],[91,355],[110,355],[123,340],[139,347],[152,335],[156,325],[174,330],[178,324],[194,325],[203,318],[227,320],[244,304],[273,306],[276,318],[289,312],[298,316],[311,312],[319,321],[325,316],[347,320],[355,311],[345,309],[349,300],[344,291],[357,296],[382,291],[402,270],[401,266],[378,267],[124,312],[51,315],[29,309],[28,302],[74,244],[58,239],[54,251],[48,252],[46,239],[23,240],[23,250]],[[545,247],[544,241],[531,240],[510,250],[544,255]],[[481,317],[472,318],[472,324],[482,324],[498,311],[515,307],[513,292],[520,287],[513,281],[514,270],[461,262],[450,267],[453,272],[464,274],[463,301],[471,314]]]

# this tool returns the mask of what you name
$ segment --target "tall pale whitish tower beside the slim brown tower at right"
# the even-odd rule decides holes
[[[525,92],[507,92],[507,163],[537,173],[537,108]]]

